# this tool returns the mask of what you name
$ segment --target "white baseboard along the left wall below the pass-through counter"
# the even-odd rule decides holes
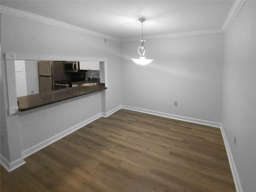
[[[44,147],[46,147],[46,146],[48,146],[48,145],[50,145],[50,144],[60,140],[61,138],[71,134],[72,132],[82,128],[83,126],[86,126],[87,124],[95,121],[96,119],[98,119],[100,117],[102,117],[101,113],[99,113],[99,114],[97,114],[97,115],[95,115],[95,116],[93,116],[93,117],[91,117],[91,118],[89,118],[89,119],[87,119],[87,120],[85,120],[85,121],[83,121],[81,123],[78,123],[75,126],[69,128],[69,129],[67,129],[67,130],[65,130],[65,131],[63,131],[63,132],[61,132],[61,133],[59,133],[59,134],[57,134],[57,135],[47,139],[47,140],[44,140],[43,142],[41,142],[41,143],[39,143],[39,144],[37,144],[37,145],[35,145],[35,146],[33,146],[33,147],[23,151],[22,152],[22,157],[26,158],[26,157],[32,155],[33,153],[35,153],[35,152],[41,150],[42,148],[44,148]]]

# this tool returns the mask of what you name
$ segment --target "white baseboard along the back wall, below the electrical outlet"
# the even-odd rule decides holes
[[[168,114],[168,113],[163,113],[163,112],[158,112],[158,111],[152,111],[148,109],[142,109],[142,108],[136,108],[136,107],[131,107],[131,106],[121,106],[122,109],[127,109],[127,110],[132,110],[132,111],[138,111],[142,113],[147,113],[147,114],[152,114],[156,116],[162,116],[166,118],[171,118],[171,119],[176,119],[176,120],[181,120],[181,121],[186,121],[186,122],[192,122],[192,123],[197,123],[201,125],[207,125],[207,126],[212,126],[212,127],[221,127],[221,123],[217,122],[212,122],[212,121],[206,121],[206,120],[201,120],[201,119],[195,119],[195,118],[190,118],[190,117],[184,117],[184,116],[178,116],[178,115],[173,115],[173,114]]]

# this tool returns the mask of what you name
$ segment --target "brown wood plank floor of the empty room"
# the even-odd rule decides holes
[[[235,192],[220,129],[119,110],[25,158],[1,192]]]

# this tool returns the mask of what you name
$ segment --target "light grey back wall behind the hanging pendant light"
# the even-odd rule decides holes
[[[223,34],[122,42],[122,105],[221,122]],[[174,106],[174,101],[178,106]]]

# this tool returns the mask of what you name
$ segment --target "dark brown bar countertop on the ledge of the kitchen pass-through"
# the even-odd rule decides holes
[[[78,96],[105,90],[105,86],[77,86],[68,89],[55,90],[48,93],[39,93],[18,97],[19,111],[26,111]]]

